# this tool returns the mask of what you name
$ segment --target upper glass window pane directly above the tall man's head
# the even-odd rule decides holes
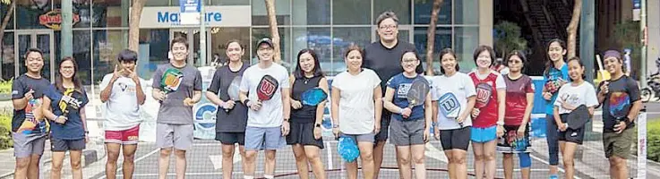
[[[373,4],[373,24],[378,15],[385,11],[397,13],[399,24],[410,24],[410,3],[411,0],[379,0]]]

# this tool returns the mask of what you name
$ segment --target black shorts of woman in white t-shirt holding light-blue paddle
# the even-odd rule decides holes
[[[440,130],[440,142],[443,150],[462,149],[470,146],[470,126],[460,129]]]

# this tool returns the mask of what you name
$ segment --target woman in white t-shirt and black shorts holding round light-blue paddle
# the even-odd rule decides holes
[[[451,48],[440,52],[440,65],[442,75],[431,80],[433,133],[449,159],[450,178],[467,178],[466,156],[472,126],[470,112],[476,100],[475,84],[467,74],[459,72],[459,61]]]

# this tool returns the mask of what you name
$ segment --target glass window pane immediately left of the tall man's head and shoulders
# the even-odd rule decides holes
[[[333,28],[332,33],[335,43],[332,45],[333,61],[330,70],[326,70],[328,75],[336,75],[339,72],[346,71],[346,63],[344,63],[344,53],[346,48],[355,44],[364,49],[367,45],[371,44],[371,28]]]

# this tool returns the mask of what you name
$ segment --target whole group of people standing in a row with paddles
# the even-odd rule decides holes
[[[215,72],[206,98],[218,105],[216,140],[221,143],[223,178],[232,178],[235,145],[243,161],[244,178],[255,176],[256,156],[265,152],[264,177],[273,178],[276,151],[291,145],[300,178],[326,178],[321,162],[321,120],[326,103],[304,105],[302,94],[320,88],[330,93],[332,132],[336,137],[352,138],[360,151],[364,178],[378,178],[383,148],[390,138],[396,146],[400,178],[425,178],[424,145],[432,136],[441,141],[449,158],[450,178],[467,178],[467,149],[472,143],[477,178],[493,178],[495,152],[504,153],[506,178],[513,177],[513,155],[518,154],[523,178],[529,178],[531,159],[528,149],[529,122],[534,105],[535,86],[523,74],[527,58],[513,51],[503,59],[507,74],[492,70],[492,47],[477,47],[473,60],[476,71],[459,72],[458,55],[450,48],[441,50],[441,75],[424,77],[421,58],[412,44],[398,40],[399,20],[385,12],[376,20],[380,40],[361,48],[347,47],[347,71],[334,77],[331,84],[321,70],[313,49],[296,56],[294,72],[273,62],[273,44],[262,38],[257,44],[258,64],[244,64],[243,46],[227,42],[227,65]],[[548,150],[551,178],[557,178],[561,151],[566,177],[574,175],[573,153],[582,143],[584,126],[568,126],[567,115],[579,107],[614,110],[604,112],[604,149],[610,158],[613,178],[626,178],[634,119],[639,113],[639,88],[623,75],[621,55],[604,55],[606,70],[613,80],[602,82],[596,92],[584,79],[584,66],[578,57],[564,61],[566,50],[561,40],[547,46],[550,63],[543,87],[548,120]],[[174,38],[171,58],[154,72],[152,98],[160,103],[157,119],[159,178],[166,178],[169,159],[175,156],[176,178],[184,178],[186,151],[193,148],[193,105],[201,100],[201,72],[186,64],[187,40]],[[87,127],[85,105],[89,98],[77,79],[75,60],[65,57],[54,84],[40,76],[42,53],[30,49],[25,55],[28,72],[13,81],[13,140],[17,158],[15,178],[37,178],[39,158],[50,136],[53,151],[51,176],[59,178],[64,152],[69,151],[74,178],[81,178],[81,149],[85,148]],[[101,82],[100,99],[106,119],[107,178],[116,178],[117,158],[123,150],[123,176],[132,178],[133,159],[141,124],[139,109],[146,99],[146,81],[138,77],[137,54],[124,50],[113,73]],[[261,79],[270,75],[279,85],[270,100],[257,97]],[[239,79],[238,98],[230,98],[229,88]],[[427,81],[430,92],[425,102],[409,106],[407,92],[413,81]],[[330,92],[331,91],[331,92]],[[622,110],[622,111],[621,111]],[[619,116],[619,117],[614,117]],[[471,141],[471,142],[470,142]],[[415,172],[413,173],[413,166]],[[347,163],[349,178],[357,178],[357,162]]]

